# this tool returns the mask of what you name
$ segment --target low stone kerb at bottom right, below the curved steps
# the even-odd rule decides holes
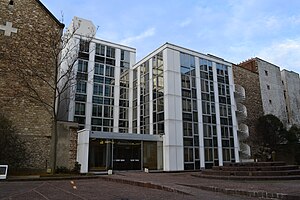
[[[296,195],[274,193],[274,192],[267,192],[267,191],[249,191],[243,189],[220,188],[215,186],[203,186],[203,185],[186,185],[186,184],[178,184],[178,185],[198,188],[201,190],[212,191],[212,192],[221,192],[229,195],[242,195],[242,196],[258,197],[258,198],[276,198],[276,199],[284,199],[284,200],[300,199],[300,196],[296,196]]]

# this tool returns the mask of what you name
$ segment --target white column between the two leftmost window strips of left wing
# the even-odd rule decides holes
[[[96,44],[90,42],[89,63],[88,63],[88,81],[86,89],[86,107],[85,107],[85,129],[91,130],[91,120],[93,111],[93,86],[94,86],[94,65]]]

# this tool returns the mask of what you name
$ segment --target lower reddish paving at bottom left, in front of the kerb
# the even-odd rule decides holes
[[[140,176],[141,175],[142,174],[140,174]],[[75,180],[74,184],[72,184],[70,180],[16,182],[4,181],[0,182],[0,199],[256,199],[243,196],[230,196],[222,193],[208,192],[184,186],[178,187],[188,194],[168,192],[147,187],[134,186],[130,184],[122,184],[118,182],[106,181],[101,178]]]

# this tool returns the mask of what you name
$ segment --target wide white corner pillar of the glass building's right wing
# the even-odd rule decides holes
[[[184,169],[180,53],[163,50],[164,59],[164,170]]]

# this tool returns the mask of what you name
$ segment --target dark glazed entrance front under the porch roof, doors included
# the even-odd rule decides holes
[[[162,142],[90,138],[89,171],[161,170]]]

